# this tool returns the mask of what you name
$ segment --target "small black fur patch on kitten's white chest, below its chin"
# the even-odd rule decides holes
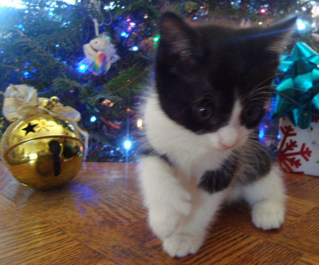
[[[206,171],[198,186],[208,193],[224,190],[231,183],[236,170],[235,156],[228,158],[216,171]]]

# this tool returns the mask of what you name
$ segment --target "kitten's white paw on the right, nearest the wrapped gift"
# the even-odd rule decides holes
[[[285,206],[275,200],[264,200],[253,206],[252,221],[263,230],[278,229],[285,218]]]

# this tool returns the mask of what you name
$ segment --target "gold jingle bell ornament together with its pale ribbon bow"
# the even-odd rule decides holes
[[[58,97],[38,98],[33,87],[9,85],[2,112],[12,123],[1,138],[0,154],[17,180],[49,190],[76,176],[88,139],[76,123],[81,119],[76,109],[64,107]]]

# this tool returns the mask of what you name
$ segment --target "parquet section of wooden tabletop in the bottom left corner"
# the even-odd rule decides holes
[[[0,216],[1,264],[97,262],[102,256],[38,217]]]

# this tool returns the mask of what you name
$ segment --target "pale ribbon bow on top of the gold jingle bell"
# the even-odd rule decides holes
[[[42,102],[46,98],[38,98],[38,92],[27,85],[10,85],[4,92],[4,103],[2,113],[10,122],[25,115],[36,115],[43,113]],[[76,109],[57,103],[50,109],[52,112],[59,113],[75,122],[81,120],[80,112]]]

